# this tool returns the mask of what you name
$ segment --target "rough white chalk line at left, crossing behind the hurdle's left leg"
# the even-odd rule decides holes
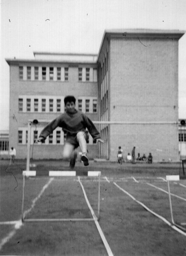
[[[39,193],[39,195],[32,201],[32,206],[23,213],[23,216],[28,214],[34,208],[36,201],[41,197],[41,195],[43,194],[43,192],[49,186],[49,184],[52,182],[53,179],[54,179],[53,177],[50,178],[49,182],[44,185],[44,187],[41,189],[41,192]],[[0,242],[0,250],[2,249],[3,245],[6,244],[15,235],[16,230],[19,229],[23,225],[21,219],[18,221],[5,221],[6,224],[12,224],[12,222],[15,222],[14,230],[12,230],[5,238],[2,239],[2,241]],[[1,224],[3,224],[3,222],[1,222]]]

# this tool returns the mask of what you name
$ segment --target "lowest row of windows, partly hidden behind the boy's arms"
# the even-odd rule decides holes
[[[36,143],[36,140],[38,139],[38,136],[41,133],[41,131],[42,131],[42,128],[39,128],[38,130],[31,131],[31,145],[33,145],[33,143]],[[88,135],[87,136],[88,144],[92,145],[92,144],[96,143],[96,141],[93,141],[93,138],[89,133],[87,133],[87,135]],[[64,145],[66,138],[67,138],[67,132],[62,131],[60,128],[57,128],[41,144]],[[18,144],[26,145],[27,143],[28,143],[28,130],[26,128],[19,128]]]

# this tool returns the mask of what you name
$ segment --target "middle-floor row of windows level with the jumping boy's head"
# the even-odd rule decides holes
[[[97,99],[94,97],[79,97],[78,110],[85,113],[97,112]],[[63,113],[64,97],[42,97],[42,96],[19,96],[19,112],[45,112],[45,113]]]

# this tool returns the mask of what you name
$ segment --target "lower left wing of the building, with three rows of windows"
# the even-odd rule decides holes
[[[6,60],[10,66],[9,145],[16,148],[17,158],[27,155],[28,124],[32,126],[32,152],[33,142],[44,126],[64,112],[67,95],[76,97],[76,108],[90,119],[99,119],[96,55],[34,55],[34,60]],[[38,120],[37,126],[34,119]],[[34,144],[31,157],[61,158],[65,135],[61,128],[56,128],[45,143]],[[98,157],[98,145],[90,135],[88,150],[91,157]]]

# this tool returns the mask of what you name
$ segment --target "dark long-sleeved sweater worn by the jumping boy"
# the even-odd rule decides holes
[[[93,140],[100,138],[99,131],[97,131],[93,122],[81,111],[75,110],[75,113],[65,112],[61,114],[45,126],[39,137],[44,137],[44,139],[46,139],[46,137],[57,127],[61,127],[63,131],[67,131],[67,137],[77,134],[78,131],[86,131],[87,128],[90,135],[93,137]]]

